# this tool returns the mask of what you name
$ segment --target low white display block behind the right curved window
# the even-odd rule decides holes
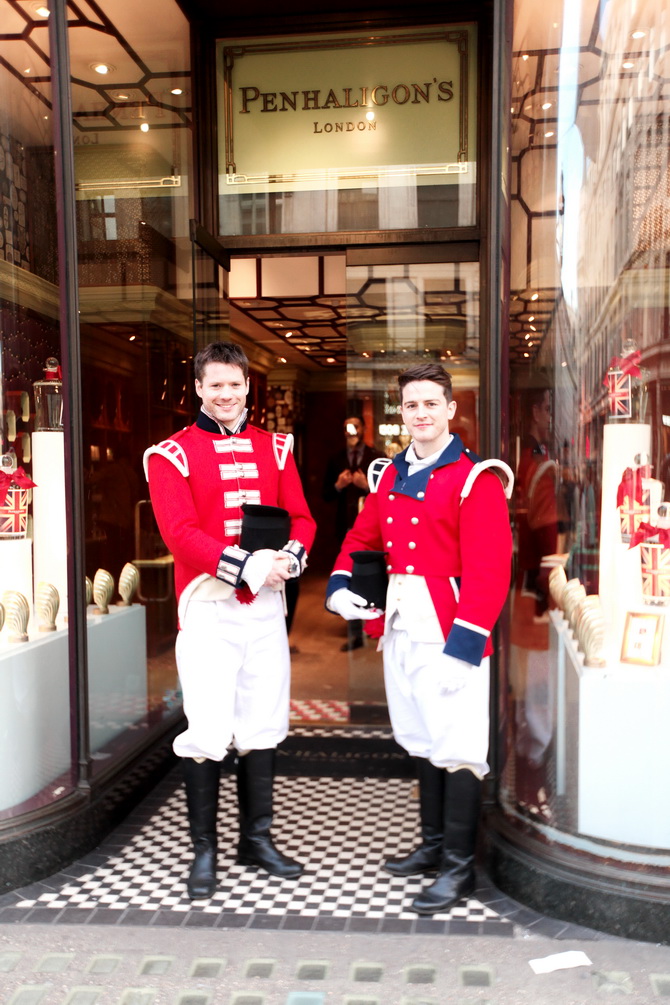
[[[641,608],[648,611],[649,608]],[[551,645],[559,666],[579,681],[578,831],[623,844],[670,848],[670,668],[621,663],[612,639],[603,668],[584,665],[584,655],[560,612],[551,612]],[[609,633],[609,637],[618,633]],[[665,641],[665,640],[664,640]],[[665,645],[664,645],[665,647]],[[559,681],[559,693],[565,688]],[[565,719],[557,717],[559,749]],[[561,773],[561,758],[556,759]],[[574,793],[567,793],[570,798]]]

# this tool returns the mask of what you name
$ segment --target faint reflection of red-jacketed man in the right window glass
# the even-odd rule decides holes
[[[560,468],[551,456],[551,393],[530,388],[521,398],[516,471],[516,578],[510,631],[510,698],[514,723],[516,799],[529,815],[551,817],[547,758],[553,709],[549,689],[548,576],[560,561]]]

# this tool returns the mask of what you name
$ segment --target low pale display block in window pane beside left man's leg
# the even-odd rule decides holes
[[[147,616],[142,604],[88,608],[88,715],[91,752],[147,715]]]

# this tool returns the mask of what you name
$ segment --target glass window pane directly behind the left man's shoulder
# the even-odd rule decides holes
[[[189,25],[177,3],[68,22],[93,771],[181,711],[173,562],[145,449],[191,421]]]

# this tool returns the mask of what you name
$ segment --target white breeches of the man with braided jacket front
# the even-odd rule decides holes
[[[280,592],[262,587],[252,604],[192,600],[176,653],[188,729],[175,754],[221,761],[231,743],[264,750],[286,737],[290,659]]]

